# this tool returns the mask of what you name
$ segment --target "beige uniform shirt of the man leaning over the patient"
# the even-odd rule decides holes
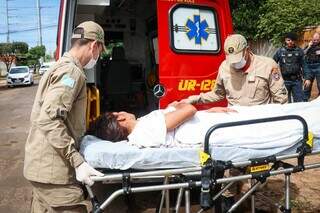
[[[212,91],[188,97],[189,103],[210,103],[227,98],[229,106],[252,106],[286,103],[287,90],[278,65],[270,58],[250,53],[251,64],[245,71],[237,71],[227,61],[219,67]]]

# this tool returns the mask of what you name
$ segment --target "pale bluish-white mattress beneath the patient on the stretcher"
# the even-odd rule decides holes
[[[216,160],[245,161],[269,155],[293,154],[299,143],[292,147],[275,149],[247,149],[238,147],[213,147],[211,153]],[[320,138],[314,140],[314,150],[320,149]],[[95,168],[107,169],[167,169],[199,166],[200,148],[144,148],[130,146],[126,141],[109,142],[87,135],[80,152]]]

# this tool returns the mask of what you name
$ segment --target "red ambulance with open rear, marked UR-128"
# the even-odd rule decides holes
[[[103,27],[108,49],[86,71],[89,117],[142,115],[212,90],[232,33],[228,0],[61,0],[56,59],[89,20]]]

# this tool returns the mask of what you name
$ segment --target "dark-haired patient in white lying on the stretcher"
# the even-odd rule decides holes
[[[155,110],[139,119],[126,112],[106,113],[89,134],[107,141],[128,140],[130,145],[144,147],[201,146],[206,132],[218,123],[283,115],[300,115],[315,137],[320,137],[320,97],[312,102],[268,104],[251,107],[217,107],[198,111],[189,104],[178,103],[165,110]],[[237,113],[228,113],[228,112]],[[222,112],[222,113],[212,113]],[[215,131],[210,137],[214,146],[274,149],[290,147],[302,135],[301,123],[292,120],[230,127]]]

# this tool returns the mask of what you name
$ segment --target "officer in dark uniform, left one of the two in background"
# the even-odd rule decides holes
[[[302,93],[302,74],[304,53],[300,47],[297,47],[295,33],[285,35],[285,46],[278,49],[273,59],[279,63],[284,84],[288,90],[289,103],[303,101]]]

